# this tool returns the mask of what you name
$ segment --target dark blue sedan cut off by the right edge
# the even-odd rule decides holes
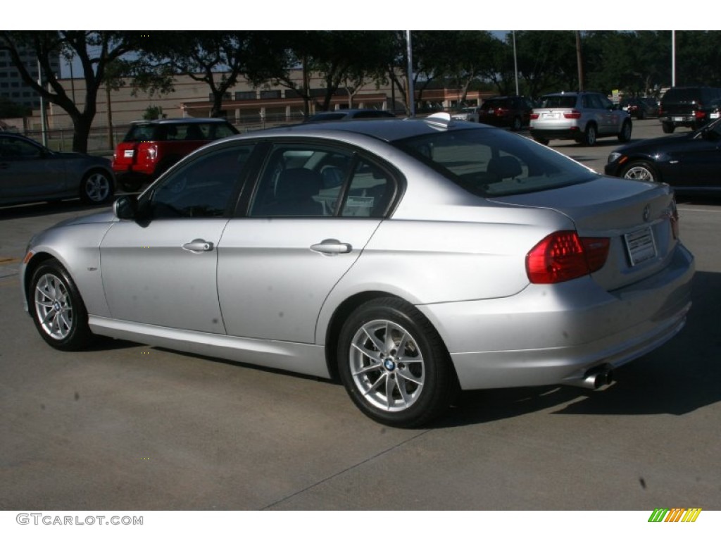
[[[721,120],[691,133],[620,146],[606,175],[667,182],[678,192],[721,191]]]

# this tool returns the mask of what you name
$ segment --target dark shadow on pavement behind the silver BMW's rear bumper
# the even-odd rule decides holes
[[[721,401],[721,274],[698,272],[686,327],[615,371],[606,390],[526,387],[465,392],[435,426],[461,426],[554,408],[553,415],[685,415]]]

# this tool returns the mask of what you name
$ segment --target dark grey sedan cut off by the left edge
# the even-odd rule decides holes
[[[0,205],[76,197],[109,203],[114,188],[105,158],[55,152],[30,138],[0,133]]]

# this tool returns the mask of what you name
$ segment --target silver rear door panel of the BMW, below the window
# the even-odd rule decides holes
[[[313,343],[323,302],[379,223],[348,218],[232,220],[218,248],[218,296],[227,333]],[[338,242],[329,242],[332,239]],[[324,241],[328,248],[312,248]]]

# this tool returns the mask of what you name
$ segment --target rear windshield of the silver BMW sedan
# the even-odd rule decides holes
[[[596,176],[558,152],[503,130],[443,131],[395,144],[475,195],[531,193]]]

